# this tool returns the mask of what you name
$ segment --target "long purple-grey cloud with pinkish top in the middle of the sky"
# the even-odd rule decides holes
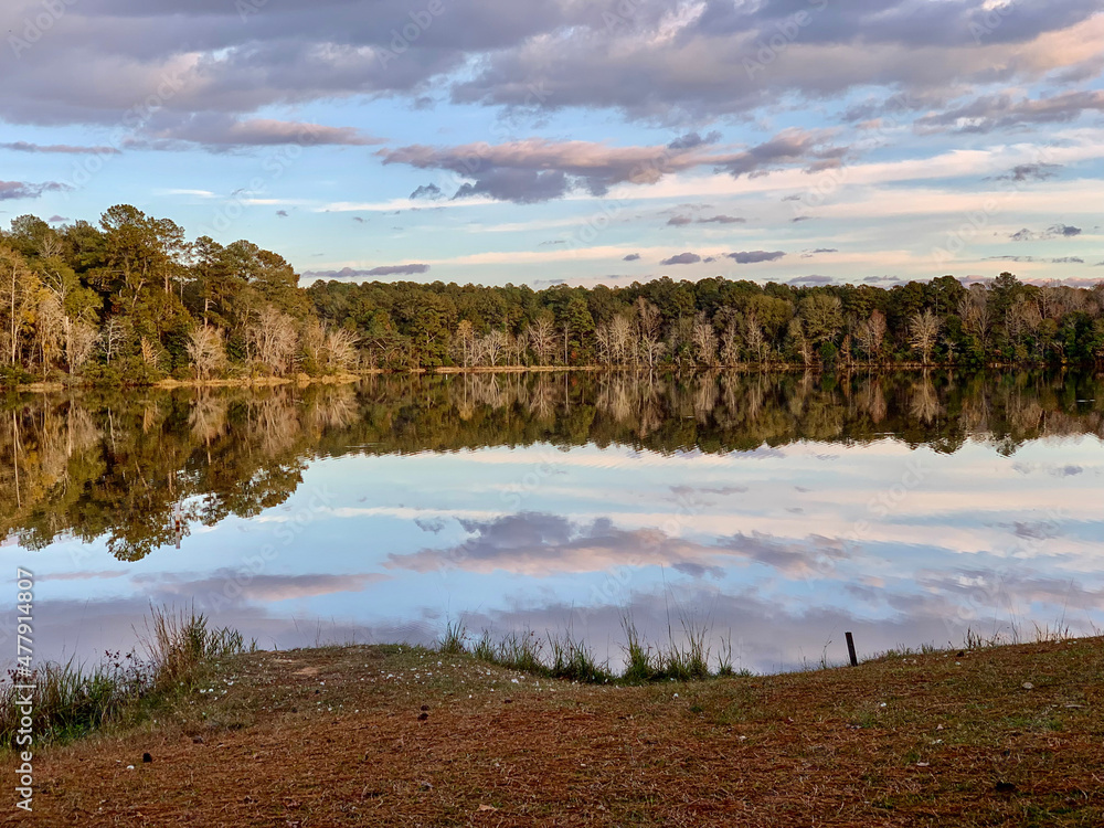
[[[420,170],[440,169],[464,183],[453,197],[486,195],[499,201],[534,203],[560,199],[576,190],[604,195],[615,184],[655,184],[665,177],[711,168],[734,177],[763,174],[781,166],[808,166],[842,157],[827,144],[825,130],[786,129],[749,149],[703,142],[672,149],[667,146],[611,147],[593,141],[553,141],[528,138],[507,144],[457,147],[413,145],[379,151],[383,163]]]

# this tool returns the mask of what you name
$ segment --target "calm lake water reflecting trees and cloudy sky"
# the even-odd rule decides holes
[[[263,647],[679,617],[739,666],[1104,628],[1104,376],[538,374],[9,399],[0,648],[150,602]],[[4,592],[7,594],[4,594]]]

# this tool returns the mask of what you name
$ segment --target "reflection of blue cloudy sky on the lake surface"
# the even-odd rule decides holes
[[[106,539],[0,545],[35,576],[40,658],[130,648],[150,602],[262,648],[429,644],[445,625],[571,629],[620,658],[680,617],[774,671],[925,644],[1104,627],[1104,443],[986,435],[954,454],[888,437],[725,455],[549,444],[311,461],[252,519],[118,561]],[[14,540],[14,539],[13,539]],[[13,612],[13,608],[12,608]],[[670,618],[668,617],[670,614]],[[0,625],[0,645],[14,627]]]

